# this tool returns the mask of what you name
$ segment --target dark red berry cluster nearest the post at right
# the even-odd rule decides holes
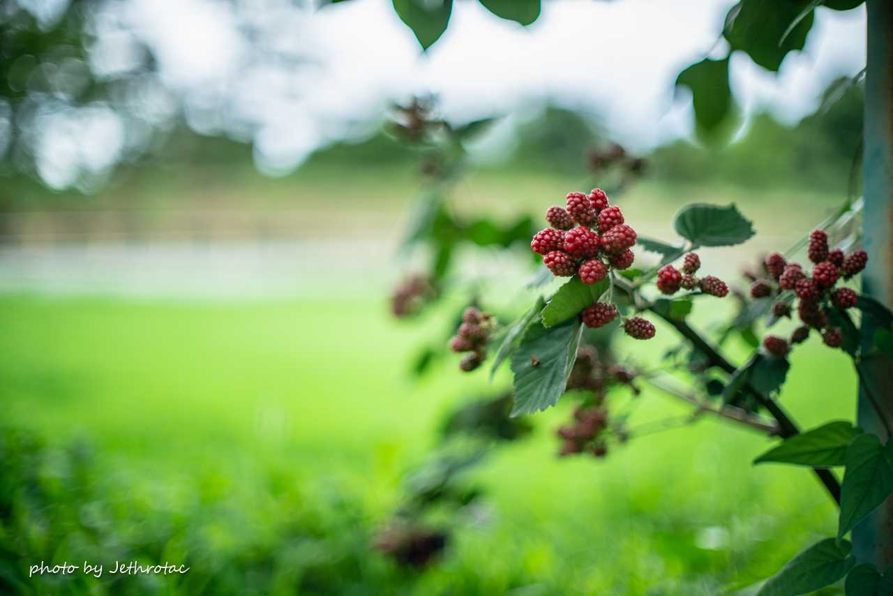
[[[750,286],[752,298],[775,298],[782,291],[793,291],[797,296],[797,318],[803,325],[797,327],[790,340],[767,335],[763,347],[772,356],[787,355],[790,345],[804,342],[812,329],[820,332],[822,340],[831,348],[843,344],[840,328],[828,325],[828,309],[846,310],[855,306],[858,298],[855,291],[835,286],[840,280],[848,280],[861,272],[868,262],[868,254],[856,250],[845,256],[839,248],[830,250],[828,234],[815,230],[809,235],[806,256],[813,262],[811,272],[802,264],[789,263],[779,253],[766,256],[764,270],[769,279],[753,278],[755,281]],[[791,311],[784,299],[772,305],[772,315],[776,317],[791,316]]]

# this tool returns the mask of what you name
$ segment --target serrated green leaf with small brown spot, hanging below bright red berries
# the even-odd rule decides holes
[[[582,328],[579,319],[555,327],[544,327],[536,319],[530,323],[512,355],[512,416],[555,406],[567,387]]]

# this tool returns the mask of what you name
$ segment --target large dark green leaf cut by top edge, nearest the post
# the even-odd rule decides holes
[[[730,27],[723,31],[723,36],[732,50],[743,50],[763,68],[778,71],[788,52],[803,49],[806,34],[813,26],[813,13],[807,11],[785,35],[790,23],[803,12],[806,4],[805,0],[741,0],[738,14]],[[779,43],[781,38],[784,40]]]

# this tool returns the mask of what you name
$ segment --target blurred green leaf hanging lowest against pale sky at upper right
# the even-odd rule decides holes
[[[691,89],[698,132],[712,138],[730,129],[735,121],[735,102],[729,87],[729,58],[706,58],[692,64],[679,73],[676,87]]]

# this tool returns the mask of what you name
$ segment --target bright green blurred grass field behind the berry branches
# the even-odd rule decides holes
[[[271,592],[289,593],[296,569],[305,577],[317,569],[358,578],[338,583],[351,593],[714,594],[771,575],[835,527],[811,473],[750,466],[772,444],[753,432],[703,420],[630,441],[604,461],[559,460],[551,432],[569,411],[558,407],[533,417],[530,441],[474,471],[488,508],[458,526],[437,565],[407,575],[369,552],[368,528],[395,507],[401,474],[434,444],[439,416],[507,382],[462,376],[452,361],[413,381],[409,352],[442,331],[437,321],[393,323],[378,299],[25,295],[0,298],[0,313],[5,424],[38,432],[52,448],[92,446],[90,483],[121,525],[101,535],[168,536],[155,556],[190,556],[196,582],[230,578],[227,588],[215,584],[218,593],[253,593],[271,577]],[[637,357],[659,355],[642,350],[635,346]],[[851,416],[855,375],[842,352],[813,338],[792,360],[780,399],[804,426]],[[639,421],[685,411],[649,392],[641,399]],[[314,528],[319,550],[296,546],[297,525]],[[87,548],[64,528],[41,532],[29,542],[40,545],[31,547],[38,558]],[[41,535],[64,535],[65,544]],[[256,565],[259,552],[275,553],[276,565]],[[308,567],[332,552],[340,562]],[[102,580],[83,586],[118,592]]]

